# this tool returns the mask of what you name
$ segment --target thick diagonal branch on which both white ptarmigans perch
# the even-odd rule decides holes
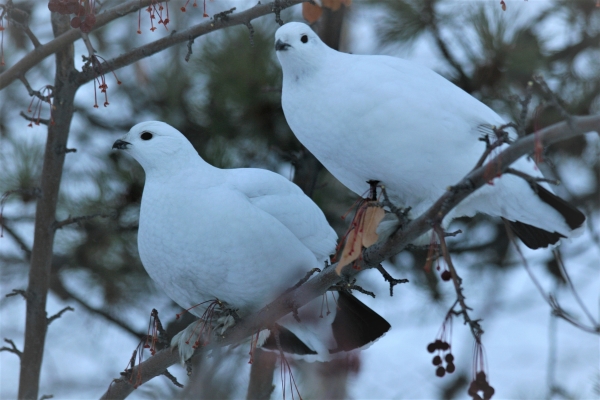
[[[600,133],[600,115],[574,117],[570,121],[570,126],[567,122],[551,125],[540,130],[537,137],[544,146],[548,146],[561,140],[566,140],[591,131]],[[529,135],[517,140],[501,154],[490,160],[488,164],[491,163],[501,171],[506,171],[513,162],[534,151],[535,140],[536,138],[534,135]],[[214,337],[212,341],[203,349],[200,349],[199,352],[219,346],[238,343],[245,338],[250,337],[253,333],[271,325],[284,315],[303,306],[317,296],[325,293],[330,286],[344,279],[351,279],[362,270],[375,268],[387,258],[398,254],[411,241],[432,229],[432,226],[436,222],[441,221],[452,208],[460,203],[461,200],[485,185],[488,181],[486,178],[488,164],[471,171],[456,185],[457,187],[467,187],[468,189],[461,190],[460,192],[454,190],[447,191],[429,208],[429,210],[411,221],[404,230],[398,231],[390,236],[385,243],[376,243],[368,249],[365,249],[363,251],[362,260],[358,264],[358,268],[352,268],[350,266],[344,267],[342,270],[343,276],[339,276],[335,272],[335,265],[324,269],[304,285],[278,297],[259,312],[238,321],[233,327],[228,329],[224,335]],[[142,383],[145,383],[155,376],[160,375],[166,368],[178,361],[179,356],[176,349],[165,349],[139,364],[134,369],[133,374],[136,376],[139,371],[141,373]],[[109,390],[102,396],[102,399],[124,399],[133,390],[133,386],[126,380],[115,379],[111,383]]]

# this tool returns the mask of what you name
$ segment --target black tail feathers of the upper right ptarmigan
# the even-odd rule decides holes
[[[585,221],[585,215],[577,208],[573,207],[554,193],[545,189],[543,186],[535,184],[532,189],[537,193],[540,199],[554,208],[565,219],[565,222],[571,229],[577,229]],[[562,237],[558,232],[549,232],[547,230],[525,224],[520,221],[505,221],[510,225],[511,230],[517,235],[530,249],[539,249],[555,244]]]

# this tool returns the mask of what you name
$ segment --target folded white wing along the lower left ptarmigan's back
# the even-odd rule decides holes
[[[256,207],[277,218],[319,261],[333,254],[337,234],[321,209],[294,183],[271,171],[229,170],[228,182]],[[253,182],[261,182],[255,185]]]

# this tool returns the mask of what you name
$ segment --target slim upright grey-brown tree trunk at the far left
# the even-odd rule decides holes
[[[69,17],[53,14],[52,29],[55,37],[68,32],[71,29]],[[25,346],[21,357],[19,378],[20,399],[38,398],[40,370],[48,328],[46,298],[50,284],[56,204],[69,127],[73,118],[73,100],[77,91],[77,85],[73,84],[70,77],[75,72],[73,45],[65,45],[56,53],[55,123],[48,126],[41,178],[42,194],[36,205],[29,286],[27,288]]]

